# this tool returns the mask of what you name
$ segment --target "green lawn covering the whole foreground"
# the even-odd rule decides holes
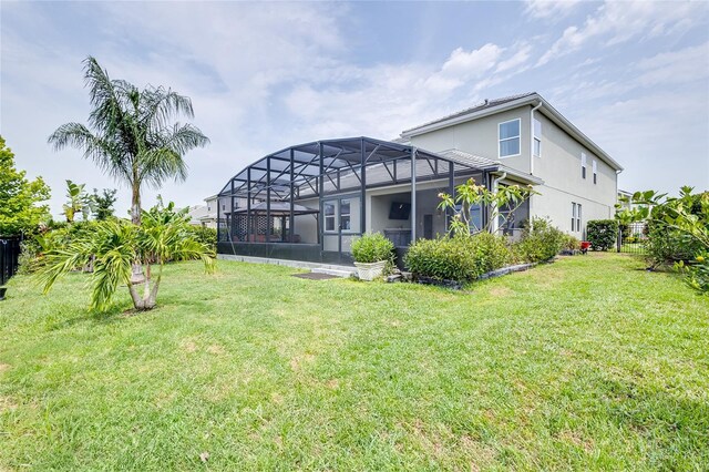
[[[0,470],[707,470],[709,299],[644,266],[449,291],[179,264],[137,316],[16,277]]]

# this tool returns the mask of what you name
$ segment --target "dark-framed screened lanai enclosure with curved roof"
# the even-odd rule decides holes
[[[467,178],[491,184],[499,166],[463,153],[352,137],[269,154],[218,194],[218,253],[351,264],[352,240],[380,232],[398,252],[446,232],[439,193]],[[476,208],[482,224],[485,208]]]

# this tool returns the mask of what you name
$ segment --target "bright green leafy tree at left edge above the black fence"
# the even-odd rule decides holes
[[[28,181],[24,171],[14,167],[14,154],[0,136],[0,235],[32,233],[50,218],[50,189],[42,177]]]

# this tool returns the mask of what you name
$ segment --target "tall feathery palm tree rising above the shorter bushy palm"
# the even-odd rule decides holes
[[[140,225],[143,184],[158,188],[169,178],[184,181],[184,155],[209,140],[189,123],[173,123],[181,114],[194,117],[187,96],[163,86],[138,90],[126,81],[111,80],[92,57],[84,60],[84,79],[92,105],[89,126],[63,124],[49,143],[54,150],[82,150],[85,158],[129,184],[131,218]]]

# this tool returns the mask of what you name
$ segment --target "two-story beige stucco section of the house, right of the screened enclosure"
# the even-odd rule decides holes
[[[538,93],[486,100],[407,130],[400,141],[462,151],[540,178],[528,215],[548,217],[576,237],[585,236],[587,220],[615,214],[623,167]]]

